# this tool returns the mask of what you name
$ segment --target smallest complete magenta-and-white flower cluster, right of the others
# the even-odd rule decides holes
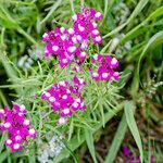
[[[92,68],[90,68],[91,76],[95,80],[111,80],[120,78],[118,72],[114,71],[118,66],[118,61],[115,58],[96,54],[92,58],[92,62],[99,63],[97,71],[92,71]]]

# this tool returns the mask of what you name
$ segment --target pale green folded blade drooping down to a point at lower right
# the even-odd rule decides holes
[[[143,150],[142,150],[142,142],[141,138],[139,135],[139,130],[134,117],[134,110],[135,110],[135,104],[133,101],[126,101],[125,102],[125,115],[126,115],[126,121],[128,124],[128,127],[131,131],[131,135],[138,146],[139,152],[140,152],[140,161],[141,163],[143,162]]]

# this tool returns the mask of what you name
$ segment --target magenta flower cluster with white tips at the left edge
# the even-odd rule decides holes
[[[12,151],[23,150],[23,142],[26,138],[36,137],[36,130],[30,127],[29,120],[25,118],[26,108],[24,104],[13,104],[13,109],[4,108],[0,110],[0,130],[8,130],[9,138],[4,141],[5,146]]]

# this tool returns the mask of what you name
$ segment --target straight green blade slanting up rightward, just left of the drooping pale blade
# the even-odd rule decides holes
[[[118,125],[118,128],[116,130],[116,134],[114,136],[114,139],[112,141],[111,148],[108,152],[104,163],[113,163],[114,162],[116,154],[118,152],[118,149],[121,147],[121,143],[124,139],[126,129],[127,129],[126,116],[125,116],[125,114],[123,114],[123,117],[121,120],[121,123]]]

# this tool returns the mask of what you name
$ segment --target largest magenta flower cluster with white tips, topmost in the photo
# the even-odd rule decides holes
[[[89,37],[95,43],[102,42],[96,21],[102,18],[100,12],[90,8],[82,8],[82,13],[73,15],[73,27],[57,27],[51,32],[45,33],[42,40],[48,42],[46,47],[46,58],[55,54],[60,60],[61,67],[74,62],[82,65],[86,59],[86,49],[90,42]]]

